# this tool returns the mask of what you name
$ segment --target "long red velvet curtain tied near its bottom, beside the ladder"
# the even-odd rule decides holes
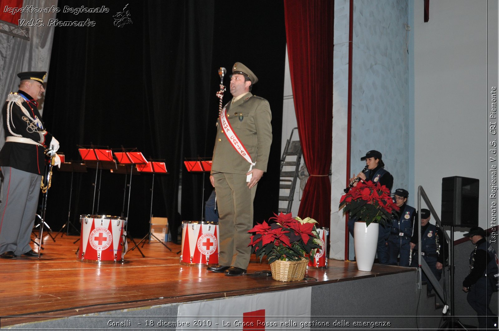
[[[287,51],[301,149],[310,177],[298,210],[329,227],[333,120],[332,0],[284,0]]]

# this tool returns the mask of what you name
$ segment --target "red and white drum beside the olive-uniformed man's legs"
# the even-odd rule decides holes
[[[218,264],[219,229],[212,222],[182,222],[180,264],[206,266]]]

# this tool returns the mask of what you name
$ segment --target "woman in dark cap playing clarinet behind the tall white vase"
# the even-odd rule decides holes
[[[385,164],[383,160],[381,160],[382,155],[378,151],[369,151],[366,153],[366,156],[360,158],[360,161],[366,161],[367,169],[364,172],[360,172],[357,176],[360,180],[370,180],[374,184],[380,183],[381,185],[385,185],[390,192],[392,191],[393,186],[393,176],[384,169]],[[350,181],[355,180],[355,176],[350,178]],[[357,183],[354,184],[356,186]],[[348,229],[350,234],[353,236],[353,226],[356,219],[352,217],[348,220]],[[388,264],[389,256],[388,256],[388,246],[387,239],[390,235],[390,225],[387,224],[386,227],[380,224],[379,232],[378,232],[378,248],[376,253],[378,254],[378,262],[381,264]]]

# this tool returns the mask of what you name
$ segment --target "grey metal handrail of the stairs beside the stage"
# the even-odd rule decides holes
[[[419,280],[419,283],[418,283],[418,288],[421,289],[421,269],[425,272],[425,275],[426,277],[428,278],[428,281],[430,283],[432,283],[433,285],[433,288],[435,289],[435,293],[439,296],[439,298],[442,300],[442,302],[444,303],[444,305],[447,305],[447,302],[446,302],[446,299],[445,299],[445,296],[444,296],[444,291],[442,289],[442,287],[440,286],[440,284],[438,283],[437,281],[437,278],[435,277],[435,275],[433,275],[430,267],[428,267],[428,264],[426,263],[426,261],[422,260],[421,259],[421,197],[423,197],[423,200],[425,201],[426,205],[428,206],[428,209],[430,209],[430,212],[431,212],[431,215],[434,216],[435,218],[435,225],[437,227],[439,227],[441,230],[442,230],[442,233],[444,234],[444,237],[445,239],[447,240],[447,244],[448,244],[448,252],[451,252],[451,245],[452,245],[452,242],[451,242],[451,239],[449,237],[449,235],[447,234],[447,232],[444,231],[444,228],[442,227],[442,222],[440,220],[440,218],[438,217],[437,215],[437,212],[435,211],[435,208],[433,208],[433,205],[430,201],[430,199],[428,198],[428,195],[426,194],[425,190],[423,189],[423,186],[418,186],[418,265],[420,266],[420,268],[418,268],[418,280]],[[445,253],[443,253],[445,254]],[[449,266],[451,266],[451,263],[449,263]],[[453,277],[450,277],[450,283],[449,283],[449,286],[450,288],[454,288],[454,281],[453,281]],[[452,303],[453,301],[453,298],[452,298],[452,291],[450,291],[451,293],[451,300],[450,302]],[[453,309],[453,307],[451,307],[451,309]]]

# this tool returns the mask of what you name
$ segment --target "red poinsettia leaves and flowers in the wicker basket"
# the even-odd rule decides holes
[[[321,242],[315,227],[316,220],[307,217],[301,219],[293,217],[291,213],[270,217],[268,220],[275,220],[275,223],[268,224],[263,221],[256,224],[250,231],[255,234],[250,237],[248,246],[251,253],[255,253],[260,258],[267,257],[268,263],[276,260],[299,261],[303,258],[311,260],[317,248],[321,247]]]

